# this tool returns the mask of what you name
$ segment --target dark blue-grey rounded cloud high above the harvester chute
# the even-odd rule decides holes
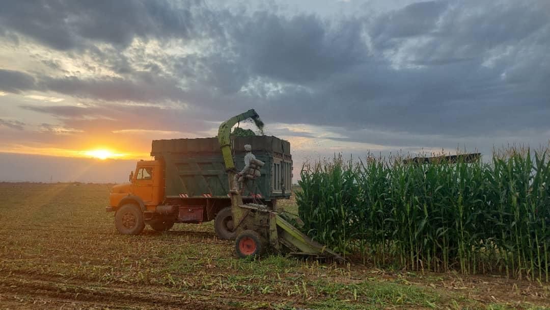
[[[232,35],[240,64],[250,66],[253,74],[311,83],[360,64],[368,56],[357,19],[330,23],[316,15],[257,12],[236,20]]]

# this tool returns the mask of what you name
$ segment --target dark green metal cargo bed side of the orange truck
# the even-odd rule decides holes
[[[260,170],[261,177],[249,181],[244,195],[261,194],[266,200],[288,198],[290,188],[281,192],[272,191],[273,157],[282,158],[292,165],[290,143],[276,137],[256,136],[232,139],[235,166],[240,171],[244,168],[244,145],[252,145],[252,153],[257,159],[265,162]],[[288,152],[288,153],[287,153]],[[153,140],[151,156],[165,163],[166,195],[187,194],[189,197],[211,194],[226,197],[229,193],[229,182],[224,166],[222,153],[217,138]]]

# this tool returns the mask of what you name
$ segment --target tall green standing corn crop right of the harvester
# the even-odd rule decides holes
[[[305,165],[296,193],[303,230],[378,267],[548,281],[548,154],[506,153],[470,164],[335,157]]]

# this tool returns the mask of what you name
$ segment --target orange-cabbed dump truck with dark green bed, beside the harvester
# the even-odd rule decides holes
[[[244,168],[244,145],[266,165],[261,177],[243,188],[245,203],[276,208],[290,197],[292,155],[290,143],[277,137],[230,137],[237,168]],[[114,186],[107,211],[113,211],[117,230],[138,235],[146,225],[167,231],[175,223],[215,220],[219,238],[234,239],[228,172],[218,138],[153,140],[151,156],[130,172],[129,183]]]

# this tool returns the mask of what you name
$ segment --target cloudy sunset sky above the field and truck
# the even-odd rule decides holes
[[[122,182],[151,140],[249,108],[295,176],[338,153],[537,148],[549,51],[547,0],[6,1],[0,181]]]

